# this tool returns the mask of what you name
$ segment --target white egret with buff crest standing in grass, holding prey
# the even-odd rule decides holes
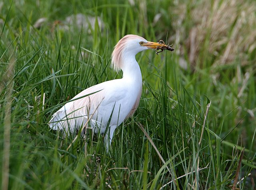
[[[74,101],[54,113],[49,121],[50,128],[69,134],[83,126],[89,118],[95,133],[104,133],[109,125],[104,139],[108,151],[116,127],[134,114],[140,102],[142,76],[135,55],[159,47],[168,49],[170,46],[147,41],[138,35],[124,36],[116,44],[111,62],[114,70],[122,70],[123,78],[96,84],[77,94],[72,98]]]

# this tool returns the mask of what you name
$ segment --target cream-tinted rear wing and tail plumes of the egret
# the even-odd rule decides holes
[[[76,126],[86,123],[87,119],[90,118],[90,114],[94,113],[95,109],[103,100],[104,93],[102,91],[104,87],[104,83],[100,83],[77,94],[72,98],[74,101],[66,103],[60,110],[53,114],[52,119],[49,121],[50,128],[72,132]],[[91,95],[86,96],[88,94]],[[94,114],[97,114],[97,110]]]

